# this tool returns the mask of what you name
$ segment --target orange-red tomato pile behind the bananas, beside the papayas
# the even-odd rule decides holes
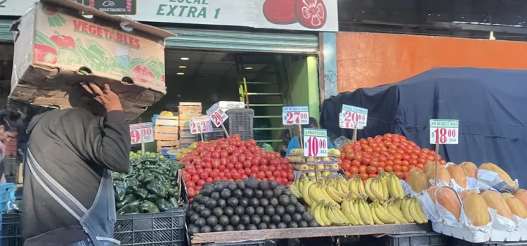
[[[419,148],[398,134],[363,138],[353,144],[344,144],[340,151],[341,169],[347,176],[359,174],[363,180],[376,177],[381,171],[393,171],[399,179],[406,179],[412,167],[423,169],[424,164],[436,159],[434,150]],[[439,155],[438,163],[446,164]]]

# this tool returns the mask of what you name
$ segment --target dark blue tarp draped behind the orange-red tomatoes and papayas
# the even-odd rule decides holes
[[[358,138],[397,133],[432,150],[429,119],[459,119],[459,144],[441,145],[443,159],[493,162],[527,187],[527,70],[436,68],[326,99],[321,127],[351,138],[351,130],[339,128],[342,104],[368,109]]]

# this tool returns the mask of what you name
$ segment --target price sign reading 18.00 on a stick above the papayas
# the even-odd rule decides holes
[[[430,119],[431,144],[459,143],[460,121],[457,119]]]

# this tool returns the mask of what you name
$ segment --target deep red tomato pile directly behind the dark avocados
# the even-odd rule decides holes
[[[205,183],[216,180],[240,181],[251,177],[287,186],[294,180],[293,166],[287,158],[267,152],[254,140],[241,141],[238,135],[198,142],[181,162],[185,165],[181,174],[189,198],[199,193]]]

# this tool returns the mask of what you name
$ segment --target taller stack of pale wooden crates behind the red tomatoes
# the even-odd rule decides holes
[[[201,115],[201,103],[179,103],[179,143],[182,146],[190,145],[197,141],[196,134],[190,134],[188,120]]]

